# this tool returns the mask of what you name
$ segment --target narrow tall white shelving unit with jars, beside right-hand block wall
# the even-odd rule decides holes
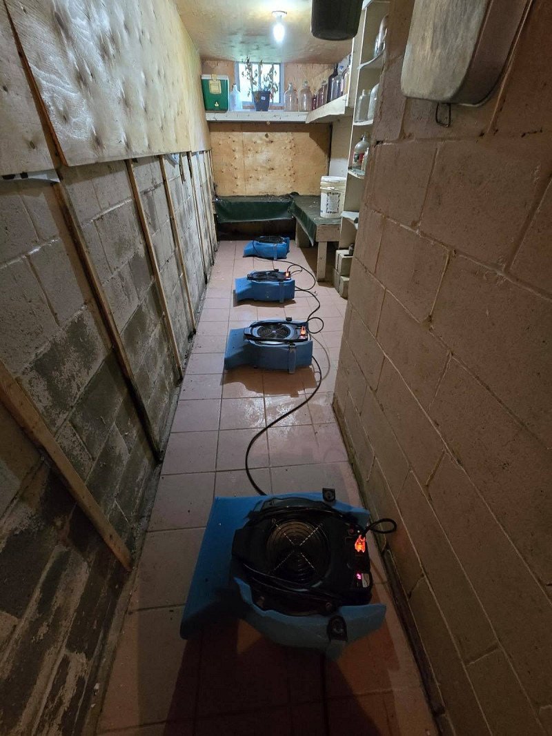
[[[367,93],[380,81],[381,70],[385,52],[374,57],[375,40],[378,36],[382,18],[389,13],[389,2],[387,0],[368,0],[363,5],[361,22],[358,33],[353,40],[353,70],[354,75],[354,98],[350,102],[353,110],[356,106],[358,93],[366,90]],[[354,120],[354,111],[353,111]],[[366,120],[354,122],[350,127],[350,141],[348,161],[351,160],[353,149],[366,132],[371,132],[374,121]],[[370,155],[370,149],[367,156]],[[347,248],[354,244],[358,230],[358,210],[361,208],[362,191],[364,189],[364,171],[347,169],[347,185],[345,188],[344,212],[342,214],[342,227],[339,233],[339,247]],[[354,216],[352,216],[354,215]]]

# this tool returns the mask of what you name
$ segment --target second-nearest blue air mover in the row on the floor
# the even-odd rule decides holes
[[[224,354],[224,368],[250,365],[255,368],[286,370],[310,366],[312,338],[307,322],[291,319],[261,319],[249,327],[230,330]]]

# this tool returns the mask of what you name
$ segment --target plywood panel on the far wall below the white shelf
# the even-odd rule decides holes
[[[211,124],[216,192],[319,194],[328,171],[328,125]]]

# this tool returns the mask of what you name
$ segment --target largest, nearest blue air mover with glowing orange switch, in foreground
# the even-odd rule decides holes
[[[243,618],[279,644],[336,659],[385,617],[385,605],[370,603],[368,524],[369,512],[333,489],[215,498],[180,635]]]

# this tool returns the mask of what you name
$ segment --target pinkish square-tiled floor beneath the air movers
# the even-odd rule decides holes
[[[224,374],[230,328],[253,319],[304,317],[313,300],[286,306],[233,302],[233,279],[266,261],[242,258],[243,241],[223,241],[213,268],[174,417],[135,587],[118,643],[99,733],[132,736],[325,735],[321,659],[284,648],[243,622],[210,626],[184,642],[179,623],[213,495],[253,495],[244,472],[250,438],[300,403],[316,385],[311,368],[294,375],[249,367]],[[314,251],[306,252],[309,261]],[[306,264],[292,244],[291,261]],[[298,277],[299,285],[310,279]],[[358,489],[331,408],[346,302],[316,286],[325,328],[316,345],[324,372],[316,397],[256,443],[256,482],[267,492],[335,486],[358,503]],[[313,323],[314,325],[314,323]],[[374,598],[386,602],[382,629],[325,663],[332,736],[435,733],[381,561],[370,540]]]

